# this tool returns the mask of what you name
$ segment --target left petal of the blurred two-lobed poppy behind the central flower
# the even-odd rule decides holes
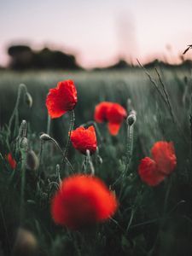
[[[94,113],[94,119],[97,123],[102,123],[104,121],[107,121],[107,112],[108,108],[112,106],[112,102],[101,102],[98,105],[96,105],[95,113]]]

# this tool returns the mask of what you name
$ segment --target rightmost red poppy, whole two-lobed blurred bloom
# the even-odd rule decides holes
[[[152,158],[141,160],[138,173],[144,183],[156,186],[170,175],[177,165],[173,143],[157,142],[151,148]]]

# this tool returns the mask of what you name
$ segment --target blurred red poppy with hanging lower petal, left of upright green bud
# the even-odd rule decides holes
[[[96,105],[94,118],[97,123],[108,121],[108,130],[111,135],[116,136],[127,113],[125,108],[118,103],[101,102]]]

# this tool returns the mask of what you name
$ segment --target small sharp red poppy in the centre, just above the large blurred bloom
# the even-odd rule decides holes
[[[86,154],[86,150],[90,150],[90,154],[96,152],[96,131],[93,125],[85,129],[83,126],[72,131],[70,137],[73,147],[82,154]]]

